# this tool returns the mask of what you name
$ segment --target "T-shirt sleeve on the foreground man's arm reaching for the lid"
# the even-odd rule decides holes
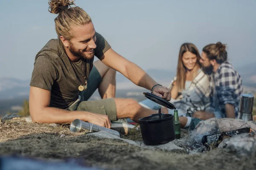
[[[109,45],[108,41],[105,40],[105,38],[96,32],[96,48],[95,48],[95,56],[99,59],[102,57],[102,55],[108,51],[111,46]]]

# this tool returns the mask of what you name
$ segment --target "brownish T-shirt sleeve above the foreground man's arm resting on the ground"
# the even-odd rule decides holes
[[[52,61],[47,57],[39,56],[34,63],[30,86],[51,91],[56,79],[57,70]]]

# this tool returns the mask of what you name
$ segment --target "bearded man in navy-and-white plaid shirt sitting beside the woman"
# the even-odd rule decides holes
[[[181,127],[193,129],[201,120],[236,118],[239,112],[242,80],[233,66],[227,62],[226,46],[221,42],[203,48],[201,61],[204,72],[211,77],[211,112],[196,111],[191,117],[180,117]]]

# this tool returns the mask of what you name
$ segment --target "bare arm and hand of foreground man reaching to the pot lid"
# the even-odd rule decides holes
[[[110,68],[122,73],[134,84],[140,87],[151,90],[154,85],[158,84],[145,71],[143,71],[142,68],[117,54],[112,48],[108,49],[100,59],[105,65],[108,65]],[[171,99],[170,90],[166,87],[157,86],[154,88],[153,94],[168,101]]]

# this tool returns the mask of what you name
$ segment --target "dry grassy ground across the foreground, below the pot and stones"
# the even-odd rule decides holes
[[[126,139],[141,138],[133,132]],[[253,170],[256,157],[212,150],[188,155],[146,150],[121,140],[100,139],[86,132],[71,133],[68,125],[29,123],[24,119],[0,122],[0,156],[26,156],[43,160],[75,159],[89,167],[120,170]]]

